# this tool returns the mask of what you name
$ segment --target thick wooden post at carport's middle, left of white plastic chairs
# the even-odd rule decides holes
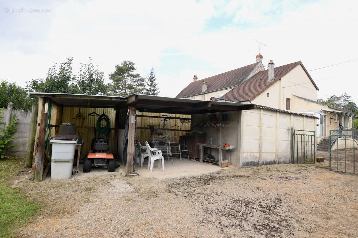
[[[132,110],[134,108],[134,110]],[[133,174],[135,140],[135,105],[129,110],[128,147],[127,147],[127,175]]]

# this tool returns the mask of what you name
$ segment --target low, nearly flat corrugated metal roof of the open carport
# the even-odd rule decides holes
[[[249,110],[254,108],[250,103],[202,101],[142,94],[127,97],[42,92],[28,92],[28,94],[31,97],[49,97],[55,104],[63,107],[122,108],[132,104],[136,105],[139,111],[152,113],[165,112],[189,115],[192,113]]]

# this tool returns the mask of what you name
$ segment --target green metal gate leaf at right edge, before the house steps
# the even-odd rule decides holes
[[[329,170],[357,174],[358,131],[347,127],[330,130],[329,145]]]

